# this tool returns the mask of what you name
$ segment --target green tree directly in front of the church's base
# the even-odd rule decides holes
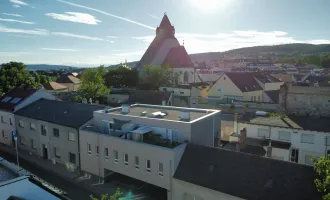
[[[155,90],[160,86],[173,83],[173,71],[169,66],[144,66],[140,74],[140,88]]]

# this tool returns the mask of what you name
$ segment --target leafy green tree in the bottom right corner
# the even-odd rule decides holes
[[[317,190],[323,195],[323,200],[330,200],[330,159],[321,157],[313,158],[317,178],[314,183]]]

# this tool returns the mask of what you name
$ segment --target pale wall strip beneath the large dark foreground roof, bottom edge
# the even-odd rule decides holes
[[[229,194],[225,194],[173,178],[172,199],[185,200],[186,195],[192,195],[193,199],[196,200],[243,200],[242,198],[231,196]]]

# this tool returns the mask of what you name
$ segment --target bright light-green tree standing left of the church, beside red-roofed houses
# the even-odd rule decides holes
[[[82,97],[92,100],[108,94],[109,89],[104,85],[104,79],[98,69],[92,68],[83,72],[80,92]]]

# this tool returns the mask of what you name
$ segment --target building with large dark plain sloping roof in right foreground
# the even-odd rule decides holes
[[[310,166],[187,144],[172,179],[172,199],[321,199],[314,179]]]

